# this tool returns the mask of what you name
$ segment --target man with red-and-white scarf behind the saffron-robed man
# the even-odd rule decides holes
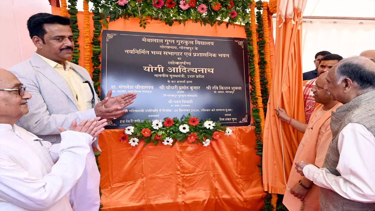
[[[333,65],[337,64],[342,57],[338,54],[327,54],[323,56],[319,61],[318,76],[322,72],[327,72],[332,68]],[[309,80],[305,85],[303,85],[303,105],[305,108],[305,123],[308,124],[312,112],[315,108],[315,99],[312,92],[312,87],[315,86],[315,81],[317,78]]]

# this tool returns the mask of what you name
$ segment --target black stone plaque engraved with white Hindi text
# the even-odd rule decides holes
[[[250,124],[248,47],[243,38],[103,30],[101,98],[136,92],[106,129],[191,114]]]

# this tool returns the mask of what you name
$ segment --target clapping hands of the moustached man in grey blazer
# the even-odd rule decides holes
[[[133,99],[136,98],[136,95],[136,93],[126,93],[111,97],[112,90],[110,89],[108,90],[107,96],[105,96],[104,100],[95,105],[95,114],[97,117],[101,117],[102,119],[117,119],[127,112],[127,109],[122,109],[132,104],[134,102]]]

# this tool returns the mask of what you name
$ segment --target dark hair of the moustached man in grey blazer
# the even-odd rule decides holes
[[[49,13],[35,14],[27,20],[27,29],[31,39],[33,39],[34,36],[38,36],[42,39],[43,43],[45,43],[44,35],[46,31],[44,30],[44,24],[70,25],[71,21],[69,18]]]

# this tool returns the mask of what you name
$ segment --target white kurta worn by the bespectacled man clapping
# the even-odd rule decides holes
[[[93,137],[75,131],[61,137],[51,146],[23,128],[0,124],[0,210],[72,210],[69,194],[85,169]]]

